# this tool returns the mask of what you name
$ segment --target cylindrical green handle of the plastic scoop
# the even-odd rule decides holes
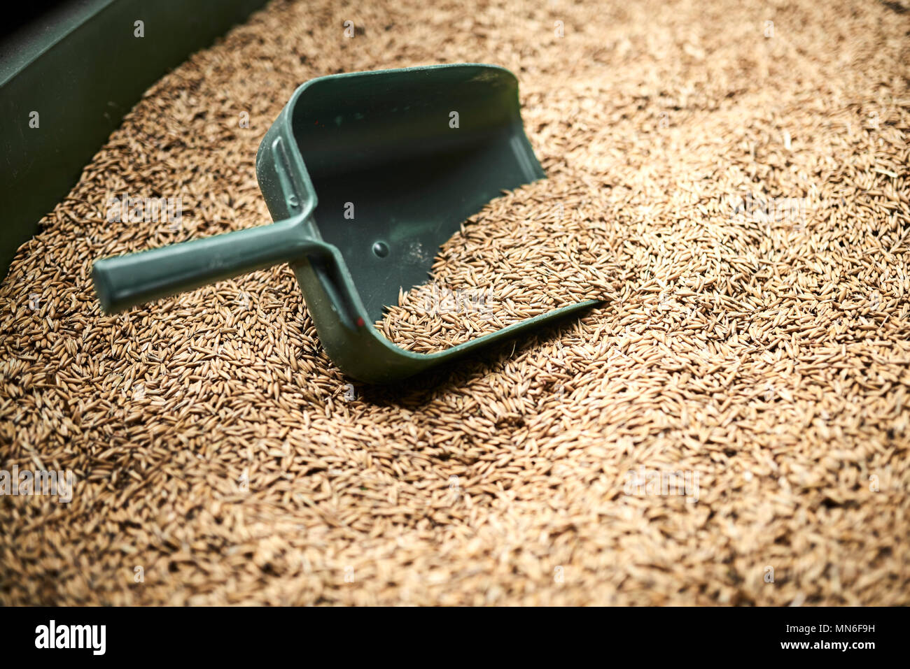
[[[200,285],[302,258],[331,247],[304,235],[298,220],[98,260],[92,279],[107,314]]]

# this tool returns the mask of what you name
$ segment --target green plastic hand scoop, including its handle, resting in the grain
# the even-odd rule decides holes
[[[389,383],[581,312],[562,307],[419,354],[372,325],[399,288],[427,281],[440,245],[501,190],[544,178],[521,125],[518,82],[495,65],[322,76],[301,85],[259,145],[276,223],[95,263],[108,313],[290,263],[335,364]]]

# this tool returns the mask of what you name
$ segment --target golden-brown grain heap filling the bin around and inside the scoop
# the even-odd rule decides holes
[[[0,466],[76,474],[0,497],[0,603],[910,604],[902,1],[268,5],[0,288]],[[519,76],[551,178],[440,254],[489,315],[430,332],[402,295],[380,326],[601,309],[390,388],[338,373],[287,267],[99,314],[94,259],[268,221],[296,85],[462,61]],[[124,192],[184,218],[105,223]]]

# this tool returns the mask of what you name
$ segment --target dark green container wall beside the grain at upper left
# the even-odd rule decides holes
[[[60,2],[0,37],[0,277],[148,86],[265,4]]]

